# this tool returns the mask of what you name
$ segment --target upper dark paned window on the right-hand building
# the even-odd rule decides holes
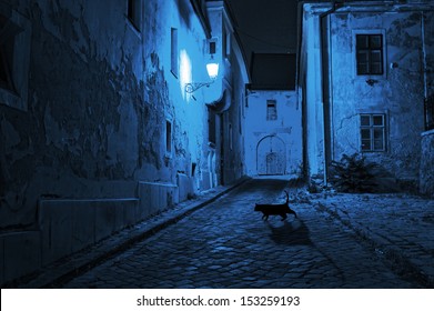
[[[383,74],[383,36],[356,34],[357,74]]]

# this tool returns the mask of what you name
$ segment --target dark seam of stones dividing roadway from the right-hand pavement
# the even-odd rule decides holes
[[[316,201],[315,209],[322,212],[329,213],[334,219],[339,220],[343,225],[350,228],[354,233],[363,241],[367,242],[372,250],[384,257],[387,261],[392,262],[392,270],[397,272],[398,275],[407,279],[410,277],[411,282],[415,282],[424,288],[434,288],[434,280],[423,272],[423,269],[414,264],[411,259],[406,258],[400,252],[398,248],[387,247],[384,243],[379,242],[382,238],[370,232],[366,229],[357,228],[353,225],[350,220],[342,219],[337,211],[332,211],[329,207]]]

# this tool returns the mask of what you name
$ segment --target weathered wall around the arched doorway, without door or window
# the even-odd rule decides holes
[[[275,100],[277,119],[266,120],[266,101]],[[302,169],[302,116],[293,91],[254,91],[248,97],[245,108],[245,170],[249,175],[259,171],[263,156],[260,143],[268,137],[283,142],[284,173],[300,174]],[[277,146],[276,146],[277,147]],[[262,149],[261,149],[262,150]],[[260,157],[260,159],[258,159]],[[263,158],[263,157],[262,157]]]

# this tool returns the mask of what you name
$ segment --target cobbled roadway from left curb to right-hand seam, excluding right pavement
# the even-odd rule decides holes
[[[420,288],[396,263],[332,217],[297,199],[299,215],[269,221],[254,204],[294,201],[285,179],[252,179],[61,288]],[[400,202],[405,200],[401,198]],[[427,201],[432,203],[432,201]],[[372,201],[371,201],[372,203]],[[359,207],[361,208],[361,207]],[[398,207],[395,207],[398,208]],[[434,205],[426,207],[433,211]],[[361,218],[362,219],[362,218]],[[374,220],[374,219],[373,219]],[[385,223],[385,222],[384,222]],[[428,234],[428,232],[427,232]],[[404,245],[405,247],[405,245]],[[428,264],[428,261],[426,262]]]

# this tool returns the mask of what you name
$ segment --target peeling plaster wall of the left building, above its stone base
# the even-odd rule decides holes
[[[143,32],[127,1],[8,2],[30,20],[32,39],[28,111],[0,104],[0,228],[33,228],[41,195],[134,197],[137,181],[175,183],[201,161],[203,96],[186,98],[170,73],[171,27],[203,64],[189,1],[144,1]]]

